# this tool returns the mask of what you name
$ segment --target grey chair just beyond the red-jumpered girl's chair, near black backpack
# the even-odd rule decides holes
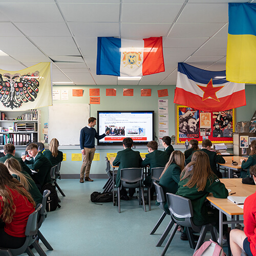
[[[37,227],[38,227],[38,232],[37,236],[38,238],[42,241],[42,243],[46,246],[48,250],[53,250],[52,246],[48,243],[48,241],[45,239],[45,237],[42,235],[40,232],[39,228],[41,227],[42,223],[46,220],[47,217],[47,211],[46,211],[46,201],[47,197],[50,195],[51,191],[50,190],[45,190],[44,194],[42,195],[42,208],[40,209],[40,214],[37,222]],[[34,248],[38,252],[40,256],[45,256],[46,253],[42,250],[42,248],[38,245],[37,241],[33,243]]]

